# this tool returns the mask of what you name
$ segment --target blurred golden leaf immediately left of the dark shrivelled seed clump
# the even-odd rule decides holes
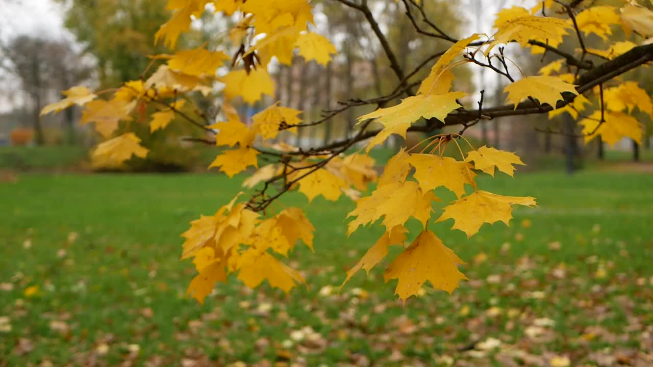
[[[211,52],[206,48],[193,48],[176,52],[168,60],[168,68],[193,76],[214,76],[229,56],[222,51]]]

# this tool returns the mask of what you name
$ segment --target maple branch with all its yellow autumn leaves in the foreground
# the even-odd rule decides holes
[[[354,10],[362,10],[383,41],[381,31],[377,31],[378,24],[374,23],[374,14],[365,3],[341,2]],[[174,54],[152,56],[148,67],[152,72],[144,72],[142,79],[125,81],[115,90],[93,92],[83,86],[74,87],[63,92],[65,99],[42,110],[42,114],[48,114],[73,105],[84,106],[80,122],[93,123],[105,139],[93,150],[95,165],[115,167],[132,157],[146,157],[148,148],[140,145],[140,138],[130,127],[135,120],[133,115],[142,114],[150,106],[156,108],[148,122],[152,134],[165,132],[171,123],[191,123],[207,135],[215,136],[215,145],[223,150],[210,168],[218,168],[229,177],[257,168],[243,183],[247,189],[254,190],[249,200],[238,202],[240,195],[236,196],[214,215],[191,222],[190,229],[182,234],[185,238],[182,259],[192,258],[198,272],[188,293],[200,302],[215,283],[227,281],[229,274],[236,274],[249,287],[257,287],[267,280],[272,287],[289,291],[305,283],[297,270],[283,264],[279,258],[287,257],[300,240],[313,249],[313,226],[298,208],[268,213],[274,200],[294,189],[304,194],[309,202],[318,196],[338,200],[344,195],[354,200],[356,208],[349,213],[349,217],[353,217],[348,223],[349,234],[361,225],[379,220],[385,227],[381,238],[347,272],[343,285],[358,270],[369,271],[383,260],[389,246],[404,247],[407,240],[404,225],[414,218],[422,224],[422,231],[415,234],[415,240],[390,263],[384,277],[386,281],[398,279],[396,293],[403,300],[416,295],[426,281],[436,289],[451,293],[460,280],[466,279],[458,270],[463,261],[439,240],[428,224],[453,219],[453,229],[469,237],[484,223],[502,221],[508,224],[513,205],[535,206],[535,199],[497,195],[477,187],[475,179],[481,173],[494,176],[495,170],[500,170],[513,176],[514,166],[523,165],[514,153],[483,146],[471,147],[470,152],[464,154],[458,146],[461,156],[457,160],[443,156],[445,145],[452,142],[458,145],[465,140],[464,131],[483,119],[511,113],[548,112],[550,118],[568,113],[573,118],[582,117],[580,123],[585,140],[601,136],[609,144],[624,136],[641,141],[641,123],[630,115],[633,110],[653,118],[650,96],[637,82],[614,85],[610,80],[583,82],[584,74],[579,75],[581,70],[592,73],[594,66],[585,60],[586,56],[601,57],[609,63],[644,47],[623,40],[610,44],[605,50],[586,48],[583,35],[594,34],[607,40],[613,35],[613,26],[620,26],[626,37],[642,37],[643,44],[650,44],[653,42],[648,38],[653,36],[653,12],[636,1],[628,1],[622,7],[596,5],[579,10],[562,2],[545,0],[531,9],[515,6],[501,10],[494,23],[497,31],[489,37],[473,34],[455,40],[441,31],[439,35],[434,34],[453,45],[440,54],[426,78],[413,84],[419,85],[417,92],[407,85],[407,78],[401,72],[396,72],[401,80],[397,89],[401,94],[374,100],[377,108],[358,118],[358,132],[352,138],[308,151],[274,142],[281,131],[296,133],[298,129],[317,123],[305,123],[302,111],[279,103],[271,104],[251,121],[241,121],[234,105],[238,101],[252,104],[261,101],[264,95],[274,95],[276,86],[268,72],[272,63],[291,65],[295,54],[321,65],[330,62],[337,49],[327,37],[311,30],[314,25],[312,4],[308,0],[169,0],[167,8],[172,15],[157,31],[155,42],[163,42],[171,49],[182,33],[191,30],[193,18],[206,12],[231,17],[234,25],[217,48],[209,48],[206,42]],[[411,17],[411,7],[421,7],[419,2],[404,1],[404,5],[407,16]],[[543,14],[543,10],[550,16]],[[559,14],[567,14],[567,18]],[[417,23],[413,24],[417,27]],[[579,59],[557,48],[565,36],[573,33],[581,45],[577,50],[582,55]],[[533,54],[552,52],[562,59],[542,67],[539,75],[513,78],[503,48],[496,47],[510,42],[530,47]],[[237,51],[230,56],[229,50]],[[391,54],[385,51],[392,64]],[[483,56],[486,63],[479,61],[477,56]],[[646,60],[638,61],[633,67]],[[495,66],[496,62],[492,64],[494,61],[502,63],[503,70]],[[503,89],[507,93],[506,106],[483,110],[481,97],[479,110],[467,110],[461,101],[469,97],[468,94],[452,90],[453,70],[460,65],[490,68],[508,78],[511,83]],[[615,77],[616,74],[611,76]],[[205,116],[197,112],[200,108],[191,97],[193,93],[221,98],[221,117],[215,123],[206,125],[196,120]],[[110,98],[103,98],[109,94]],[[400,103],[386,106],[402,94],[406,94],[406,98]],[[590,107],[594,110],[585,113]],[[420,153],[411,153],[417,146],[400,150],[377,177],[374,159],[366,153],[390,135],[406,137],[407,131],[418,128],[415,122],[423,120],[427,121],[428,129],[422,131],[433,131],[449,124],[462,124],[464,129],[458,134],[432,136]],[[381,128],[372,132],[369,128],[374,124]],[[346,154],[349,148],[366,138],[371,138],[366,143],[366,153]],[[261,155],[274,157],[276,161],[259,168]],[[374,191],[362,197],[372,182],[377,182]],[[277,189],[276,193],[270,193],[272,187]],[[441,201],[434,192],[439,187],[449,189],[458,199],[443,206],[441,214],[432,218],[434,203]]]

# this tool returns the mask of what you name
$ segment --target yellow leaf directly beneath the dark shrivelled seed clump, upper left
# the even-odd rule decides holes
[[[255,103],[264,94],[274,95],[274,81],[263,68],[250,71],[249,75],[244,70],[234,70],[219,80],[226,84],[224,93],[227,99],[240,96],[246,103]]]

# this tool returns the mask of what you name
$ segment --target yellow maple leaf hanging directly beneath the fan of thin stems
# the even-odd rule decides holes
[[[461,197],[465,194],[465,183],[476,187],[476,174],[469,163],[432,154],[411,154],[408,163],[415,167],[413,177],[424,192],[444,186]]]

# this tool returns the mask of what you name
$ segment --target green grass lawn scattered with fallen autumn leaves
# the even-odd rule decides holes
[[[305,208],[316,227],[315,253],[297,246],[286,261],[308,287],[285,295],[231,279],[200,306],[185,296],[195,269],[179,261],[179,235],[229,201],[238,180],[21,175],[0,183],[0,366],[545,366],[556,356],[646,365],[653,175],[517,172],[479,186],[535,196],[539,207],[516,208],[511,227],[485,225],[471,240],[452,221],[431,221],[468,262],[470,281],[451,296],[428,285],[402,306],[382,266],[338,294],[381,227],[347,238],[351,201],[308,206],[291,193],[283,204]]]

